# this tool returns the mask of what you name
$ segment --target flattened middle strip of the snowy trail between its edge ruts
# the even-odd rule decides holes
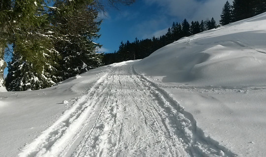
[[[146,89],[135,83],[139,80],[134,78],[132,68],[116,67],[111,71],[107,84],[113,88],[107,87],[110,90],[106,91],[108,98],[103,102],[107,104],[102,108],[104,114],[96,121],[98,127],[85,133],[86,140],[81,141],[72,157],[177,157],[178,154],[186,157],[187,153],[176,141],[165,137],[161,118],[151,106],[156,102]],[[145,101],[150,105],[146,106]]]

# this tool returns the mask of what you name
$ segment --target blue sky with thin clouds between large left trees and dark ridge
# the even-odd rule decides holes
[[[232,4],[232,0],[228,0]],[[134,41],[158,37],[166,33],[173,22],[185,18],[201,21],[214,17],[219,23],[226,0],[136,0],[130,6],[108,7],[105,15],[100,14],[100,43],[102,52],[118,50],[121,41]]]

